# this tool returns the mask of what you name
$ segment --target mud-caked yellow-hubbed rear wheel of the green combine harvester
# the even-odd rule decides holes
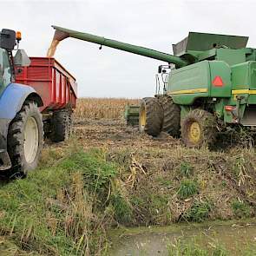
[[[216,133],[216,119],[206,110],[190,111],[181,123],[181,137],[187,147],[211,145],[215,141]]]

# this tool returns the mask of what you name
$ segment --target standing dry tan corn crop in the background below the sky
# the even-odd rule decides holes
[[[80,98],[75,108],[75,119],[120,120],[127,104],[138,105],[139,99]]]

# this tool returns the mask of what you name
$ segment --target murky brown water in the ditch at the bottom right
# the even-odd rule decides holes
[[[170,255],[167,247],[174,246],[177,240],[186,242],[195,239],[208,247],[219,243],[230,255],[240,255],[242,248],[256,246],[256,219],[128,228],[112,231],[109,235],[113,242],[113,256]],[[256,255],[256,252],[253,255]]]

